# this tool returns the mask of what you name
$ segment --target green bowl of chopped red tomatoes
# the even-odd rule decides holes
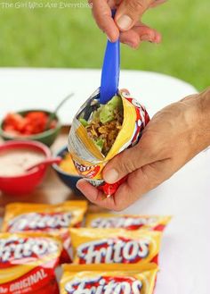
[[[48,123],[50,115],[42,109],[7,113],[0,124],[0,136],[4,140],[36,140],[50,147],[61,130],[57,115]]]

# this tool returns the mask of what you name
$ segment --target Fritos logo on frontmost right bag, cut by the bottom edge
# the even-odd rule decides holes
[[[94,277],[69,281],[68,294],[141,294],[142,283],[130,277]]]

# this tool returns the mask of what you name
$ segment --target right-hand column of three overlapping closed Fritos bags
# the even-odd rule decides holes
[[[61,294],[153,294],[162,231],[170,216],[87,214],[69,229],[73,265],[63,266]]]

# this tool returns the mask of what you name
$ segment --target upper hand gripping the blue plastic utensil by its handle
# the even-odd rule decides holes
[[[100,29],[115,42],[120,37],[122,43],[137,48],[142,41],[159,43],[161,35],[141,20],[149,7],[156,6],[166,0],[89,0],[93,5],[93,17]],[[111,9],[117,9],[115,19],[111,17]]]

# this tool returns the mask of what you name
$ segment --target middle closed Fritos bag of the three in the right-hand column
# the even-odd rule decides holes
[[[69,229],[73,263],[158,264],[162,233],[124,229]]]

